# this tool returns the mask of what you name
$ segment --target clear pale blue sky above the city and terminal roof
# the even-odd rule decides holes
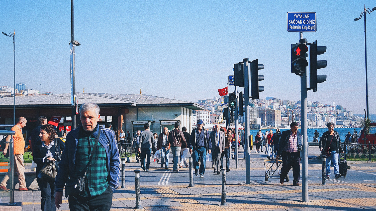
[[[363,113],[365,106],[364,18],[366,1],[74,1],[76,91],[139,93],[196,102],[218,96],[234,63],[264,64],[260,98],[300,100],[300,78],[290,72],[287,12],[316,12],[317,39],[327,52],[327,81],[308,101]],[[70,92],[70,1],[2,0],[0,30],[16,32],[16,82],[28,88]],[[0,34],[0,85],[13,86],[12,38]],[[376,11],[367,15],[368,94],[376,113]],[[229,91],[234,89],[229,87]],[[242,91],[241,89],[238,89]]]

